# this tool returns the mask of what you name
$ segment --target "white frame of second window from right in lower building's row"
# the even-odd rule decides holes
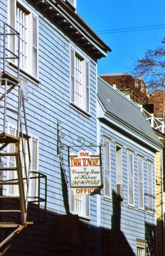
[[[141,161],[141,166],[139,165],[139,160]],[[141,168],[141,175],[140,177],[140,168]],[[140,198],[140,192],[141,191],[142,198]],[[142,203],[141,203],[142,200]],[[145,207],[145,198],[144,198],[144,166],[143,166],[143,157],[138,156],[138,204],[139,204],[139,209],[144,209]]]

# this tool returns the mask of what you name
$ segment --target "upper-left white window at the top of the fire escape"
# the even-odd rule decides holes
[[[12,28],[20,33],[20,68],[37,77],[38,38],[37,17],[21,1],[8,0],[8,18]],[[10,31],[11,32],[11,31]],[[9,36],[10,51],[18,54],[15,36]],[[17,62],[15,61],[15,65]]]

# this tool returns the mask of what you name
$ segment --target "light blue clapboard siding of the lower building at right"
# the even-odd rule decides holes
[[[110,150],[111,150],[111,193],[114,191],[116,193],[116,156],[115,147],[116,143],[122,145],[122,161],[123,161],[123,186],[125,187],[125,199],[121,203],[121,214],[118,216],[120,218],[120,231],[124,234],[126,241],[129,243],[134,253],[136,253],[136,239],[145,239],[145,225],[146,223],[153,225],[155,227],[155,203],[153,204],[153,213],[147,211],[146,207],[148,205],[148,198],[146,196],[148,190],[148,180],[147,180],[147,161],[152,161],[154,163],[155,155],[152,151],[146,150],[146,148],[136,143],[135,141],[128,140],[127,137],[120,134],[120,132],[115,131],[106,125],[101,125],[101,141],[103,138],[109,138]],[[127,173],[127,149],[134,152],[134,206],[128,205],[128,173]],[[145,194],[145,210],[141,210],[138,207],[138,156],[143,157],[143,170],[144,170],[144,194]],[[104,168],[104,161],[103,161]],[[103,169],[104,170],[104,169]],[[153,164],[153,195],[155,195],[155,170]],[[154,200],[153,200],[154,201]],[[101,200],[101,223],[102,227],[113,228],[113,198],[104,198],[104,193],[102,191]],[[115,210],[115,208],[114,208]],[[117,213],[116,213],[117,214]],[[124,246],[124,244],[123,244]]]

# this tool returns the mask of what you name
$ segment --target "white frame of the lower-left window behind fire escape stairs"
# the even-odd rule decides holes
[[[17,127],[13,124],[8,124],[8,134],[10,134],[10,131],[13,131],[14,132],[14,136],[16,136],[17,134]],[[30,136],[30,139],[29,139],[29,146],[30,146],[30,152],[31,152],[31,171],[35,171],[35,172],[38,172],[38,152],[39,152],[39,140],[38,140],[38,137],[33,135],[33,134],[29,134]],[[36,145],[36,169],[34,170],[33,169],[33,143],[32,141],[35,140],[37,141],[37,145]],[[12,145],[12,151],[15,152],[15,146],[14,144],[10,143],[8,145],[8,152],[11,152],[11,145]],[[27,143],[24,145],[24,150],[25,150],[25,155],[26,155],[26,164],[28,166],[28,148],[27,148]],[[20,157],[22,159],[22,171],[23,171],[23,176],[25,177],[25,173],[24,173],[24,161],[23,161],[23,156],[22,156],[22,142],[20,141]],[[10,166],[10,163],[11,163],[11,158],[10,157],[7,157],[7,166]],[[13,163],[13,166],[16,166],[16,163],[15,163],[15,157],[12,158],[12,163]],[[28,170],[27,170],[28,171]],[[10,171],[6,173],[6,177],[7,179],[10,179],[10,175],[13,175],[13,179],[17,179],[17,172],[16,171]],[[34,173],[32,174],[31,173],[31,177],[37,177],[37,175]],[[35,184],[34,184],[35,182]],[[35,185],[35,191],[33,191],[33,188],[34,188],[34,185]],[[29,197],[30,196],[38,196],[38,179],[30,179],[29,181]],[[10,189],[13,190],[13,193],[10,193]],[[26,189],[26,186],[25,186],[25,189]],[[32,193],[35,192],[34,194]],[[6,194],[9,195],[9,196],[19,196],[19,186],[18,185],[8,185],[6,186]],[[29,200],[34,200],[33,198]]]

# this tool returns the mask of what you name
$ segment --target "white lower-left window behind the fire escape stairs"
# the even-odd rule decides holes
[[[17,130],[15,127],[10,126],[8,127],[8,133],[12,136],[16,135]],[[29,146],[31,151],[31,177],[36,177],[36,173],[38,172],[38,138],[35,136],[31,136],[29,140]],[[8,152],[15,152],[15,144],[10,143],[8,145]],[[24,152],[26,157],[26,166],[29,166],[29,158],[28,158],[28,143],[27,139],[24,138]],[[22,162],[22,174],[23,178],[26,177],[25,174],[25,166],[24,166],[24,156],[22,152],[22,142],[20,141],[20,158]],[[8,157],[8,166],[15,167],[15,157],[10,156]],[[8,179],[17,179],[17,171],[10,171],[7,173]],[[26,189],[26,182],[24,182],[24,188]],[[19,186],[18,185],[10,185],[8,186],[8,195],[19,195]],[[38,195],[38,179],[30,179],[29,182],[29,196],[37,196]]]

